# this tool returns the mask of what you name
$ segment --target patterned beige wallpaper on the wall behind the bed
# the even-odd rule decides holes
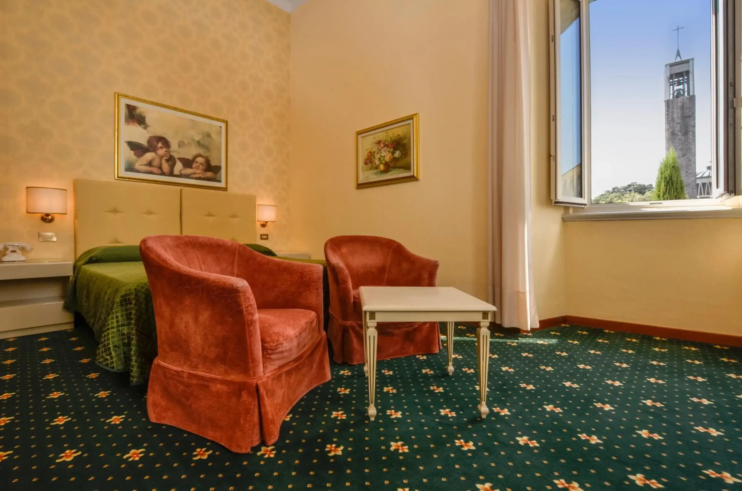
[[[114,179],[114,92],[229,120],[229,191],[289,243],[289,14],[265,0],[0,0],[0,242],[73,258],[73,178]],[[68,215],[25,213],[25,187]],[[57,233],[39,242],[37,232]]]

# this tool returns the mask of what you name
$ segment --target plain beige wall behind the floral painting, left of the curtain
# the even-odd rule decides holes
[[[380,235],[487,295],[487,1],[314,0],[292,13],[295,248]],[[355,131],[420,114],[421,180],[355,189]]]

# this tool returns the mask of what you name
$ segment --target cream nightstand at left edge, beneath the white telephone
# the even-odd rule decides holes
[[[70,261],[0,262],[0,338],[73,327],[62,307],[71,275]]]

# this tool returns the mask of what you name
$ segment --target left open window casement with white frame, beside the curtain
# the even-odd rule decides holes
[[[551,199],[588,204],[588,0],[551,0]]]

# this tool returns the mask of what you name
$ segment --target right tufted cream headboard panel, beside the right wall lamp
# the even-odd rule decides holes
[[[255,244],[255,196],[184,187],[180,194],[181,233]]]

